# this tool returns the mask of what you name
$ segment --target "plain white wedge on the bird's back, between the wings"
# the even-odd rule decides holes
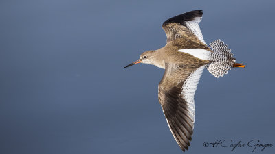
[[[183,53],[188,53],[201,60],[210,60],[211,52],[204,49],[180,49],[179,51]]]

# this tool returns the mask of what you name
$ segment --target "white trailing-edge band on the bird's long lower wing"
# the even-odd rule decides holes
[[[197,85],[199,84],[199,79],[203,73],[203,69],[206,68],[206,65],[203,65],[193,73],[189,75],[184,84],[182,85],[182,96],[186,100],[188,106],[188,112],[192,115],[192,120],[195,122],[195,101],[194,96],[197,90]]]

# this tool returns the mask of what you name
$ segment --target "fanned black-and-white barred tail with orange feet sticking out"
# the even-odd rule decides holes
[[[214,53],[210,55],[212,63],[207,66],[207,70],[215,77],[223,77],[232,67],[245,67],[243,64],[235,63],[236,59],[231,49],[223,41],[215,40],[209,46]]]

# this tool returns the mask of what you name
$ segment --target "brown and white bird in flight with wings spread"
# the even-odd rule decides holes
[[[231,50],[221,40],[209,45],[199,29],[202,10],[169,18],[162,24],[167,42],[157,50],[145,51],[139,60],[125,66],[144,63],[165,69],[158,86],[159,103],[177,144],[188,150],[195,122],[194,95],[203,69],[222,77],[230,68],[244,68],[236,63]]]

